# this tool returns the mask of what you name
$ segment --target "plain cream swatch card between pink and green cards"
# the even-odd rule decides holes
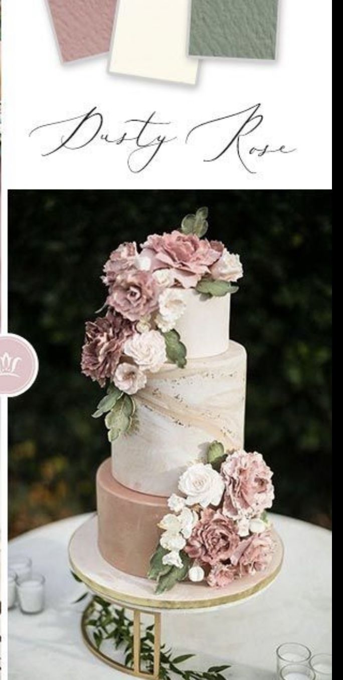
[[[188,25],[187,0],[118,0],[110,71],[195,84]]]

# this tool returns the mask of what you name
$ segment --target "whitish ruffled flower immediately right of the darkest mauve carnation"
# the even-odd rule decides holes
[[[133,358],[142,371],[156,373],[167,361],[165,340],[158,330],[135,333],[126,341],[124,352]]]

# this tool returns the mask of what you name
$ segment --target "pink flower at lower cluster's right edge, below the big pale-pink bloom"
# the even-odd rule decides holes
[[[272,562],[274,541],[270,531],[254,534],[248,539],[240,541],[237,549],[231,555],[231,563],[238,568],[240,576],[264,571]]]

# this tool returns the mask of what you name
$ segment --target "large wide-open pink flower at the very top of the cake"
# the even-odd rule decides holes
[[[185,235],[180,231],[148,236],[142,248],[142,254],[150,257],[152,270],[169,267],[184,288],[196,286],[220,257],[217,247],[212,248],[207,239],[199,239],[195,234]]]

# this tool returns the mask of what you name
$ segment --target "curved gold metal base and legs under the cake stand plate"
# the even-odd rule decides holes
[[[127,675],[133,675],[137,678],[145,678],[150,680],[158,680],[159,672],[161,670],[161,614],[159,612],[153,612],[151,615],[154,618],[154,670],[152,673],[146,673],[142,670],[142,659],[141,659],[141,615],[142,611],[140,609],[131,609],[133,611],[133,668],[128,668],[124,664],[120,664],[118,661],[110,658],[107,654],[100,651],[97,648],[91,636],[88,634],[88,615],[93,609],[93,601],[90,602],[88,607],[84,610],[81,619],[81,632],[82,639],[86,647],[91,651],[99,660],[103,661],[108,666],[120,670],[122,673]],[[129,609],[127,607],[127,609]]]

